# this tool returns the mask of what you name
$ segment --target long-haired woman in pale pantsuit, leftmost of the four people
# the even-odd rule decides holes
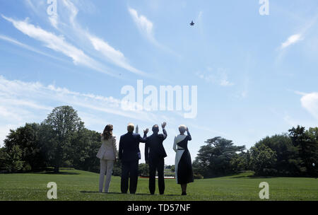
[[[102,185],[104,184],[104,177],[106,172],[105,191],[108,192],[110,188],[110,178],[112,177],[112,168],[117,157],[116,137],[112,136],[112,124],[107,124],[101,135],[102,146],[98,151],[97,157],[100,158],[100,189],[102,192]]]

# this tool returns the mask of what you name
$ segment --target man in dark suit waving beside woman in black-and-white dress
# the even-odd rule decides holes
[[[165,148],[163,148],[163,141],[167,138],[167,132],[165,131],[165,125],[163,122],[161,127],[163,128],[163,134],[158,134],[158,124],[153,126],[153,134],[146,138],[145,146],[145,160],[149,164],[149,191],[151,194],[155,193],[155,170],[158,170],[158,186],[159,193],[165,192],[165,178],[164,178],[164,166],[165,166]]]

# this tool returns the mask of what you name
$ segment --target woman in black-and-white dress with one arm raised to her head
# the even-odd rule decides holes
[[[187,131],[187,135],[184,132]],[[188,141],[192,140],[189,129],[185,125],[179,126],[180,134],[175,136],[173,150],[175,150],[175,178],[181,185],[182,195],[187,194],[187,184],[194,182],[192,161],[188,150]]]

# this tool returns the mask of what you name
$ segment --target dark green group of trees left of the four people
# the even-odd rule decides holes
[[[0,149],[0,170],[9,173],[72,167],[98,173],[100,133],[86,129],[70,106],[54,108],[47,119],[10,130]],[[114,166],[119,175],[120,163]]]

